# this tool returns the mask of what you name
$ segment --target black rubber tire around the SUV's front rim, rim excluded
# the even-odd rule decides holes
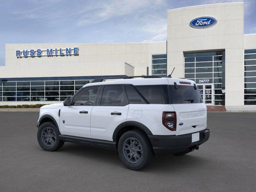
[[[55,138],[53,137],[53,134],[51,136],[49,136],[49,138],[51,138],[51,141],[54,140],[54,142],[52,142],[52,144],[50,143],[49,139],[48,139],[47,144],[43,141],[43,136],[42,136],[43,133],[42,132],[45,132],[45,131],[47,132],[47,129],[49,129],[49,130],[52,129],[55,132]],[[46,134],[48,134],[48,133],[46,133]],[[37,141],[38,141],[40,147],[42,149],[44,149],[45,151],[56,151],[64,145],[64,142],[60,140],[59,135],[60,135],[60,131],[55,126],[55,124],[53,122],[45,122],[45,123],[41,124],[40,127],[38,128]]]

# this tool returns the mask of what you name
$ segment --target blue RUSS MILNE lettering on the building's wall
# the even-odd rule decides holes
[[[79,48],[55,48],[55,49],[31,49],[31,50],[17,50],[16,57],[40,57],[40,56],[57,56],[57,55],[78,55]]]

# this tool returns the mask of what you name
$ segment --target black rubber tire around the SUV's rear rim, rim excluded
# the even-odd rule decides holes
[[[125,150],[126,149],[123,148],[124,142],[126,140],[129,140],[130,138],[135,138],[138,141],[137,143],[139,143],[141,145],[141,147],[142,147],[142,151],[141,151],[142,155],[140,154],[139,162],[131,163],[125,157],[125,153],[126,153]],[[128,149],[128,150],[130,150],[130,149]],[[128,153],[129,153],[129,151],[128,151]],[[137,151],[137,154],[138,153],[139,152]],[[129,168],[131,170],[135,170],[135,171],[147,167],[152,162],[152,160],[153,160],[153,158],[155,156],[155,154],[153,152],[152,145],[150,143],[150,140],[148,139],[148,136],[145,133],[143,133],[143,132],[141,132],[139,130],[128,131],[128,132],[125,132],[121,136],[121,138],[120,138],[120,140],[118,142],[118,154],[119,154],[119,157],[120,157],[122,163],[127,168]],[[132,154],[132,155],[135,155],[135,154]]]

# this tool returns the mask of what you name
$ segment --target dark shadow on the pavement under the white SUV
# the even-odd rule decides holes
[[[119,159],[117,152],[114,150],[78,145],[74,143],[65,143],[64,146],[56,152],[61,153],[62,156],[84,158],[84,161],[104,161],[106,164],[112,164],[119,168],[126,169]],[[187,170],[190,167],[200,169],[200,167],[207,165],[209,165],[209,159],[203,156],[197,156],[197,154],[193,154],[193,152],[191,152],[183,156],[155,156],[153,162],[141,171],[153,173],[162,171],[166,172],[166,170],[172,169],[172,172],[180,172],[183,169]]]

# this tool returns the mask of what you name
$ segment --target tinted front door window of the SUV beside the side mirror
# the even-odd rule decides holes
[[[99,87],[84,88],[75,95],[73,105],[93,105],[98,91]]]

